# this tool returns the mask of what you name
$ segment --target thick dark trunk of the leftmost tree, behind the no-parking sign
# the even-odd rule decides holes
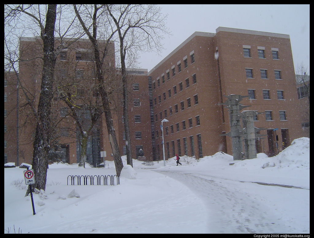
[[[49,131],[51,117],[51,100],[53,97],[53,77],[56,58],[54,54],[54,29],[56,22],[57,4],[49,4],[46,15],[46,26],[44,32],[41,32],[41,38],[44,44],[44,60],[41,79],[41,92],[38,103],[38,116],[33,164],[35,174],[35,188],[46,190],[48,151],[49,151]],[[29,189],[26,195],[29,193]]]

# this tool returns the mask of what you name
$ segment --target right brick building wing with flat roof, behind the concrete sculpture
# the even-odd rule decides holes
[[[155,128],[164,123],[165,157],[232,154],[227,95],[257,111],[257,152],[272,156],[301,136],[289,35],[219,27],[195,32],[149,71]],[[155,130],[162,157],[161,131]],[[264,139],[262,139],[264,137]]]

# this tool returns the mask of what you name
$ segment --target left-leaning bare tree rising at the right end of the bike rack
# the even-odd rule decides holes
[[[73,8],[84,32],[86,33],[90,42],[92,43],[92,47],[94,50],[95,65],[96,65],[96,78],[97,78],[97,83],[99,85],[99,92],[101,95],[102,105],[103,105],[103,109],[105,113],[109,141],[111,143],[114,162],[116,166],[116,174],[120,175],[121,170],[123,168],[123,163],[121,159],[118,141],[116,138],[116,132],[113,126],[111,108],[109,104],[109,97],[108,97],[106,88],[104,86],[104,83],[105,83],[104,61],[108,53],[109,44],[111,44],[110,40],[115,32],[112,32],[105,38],[104,47],[102,48],[102,50],[100,50],[100,45],[98,42],[99,36],[97,34],[100,31],[99,24],[104,20],[103,15],[102,15],[105,9],[104,6],[103,5],[98,6],[97,4],[94,4],[93,6],[81,5],[79,8],[77,8],[76,4],[73,4]],[[90,25],[87,25],[88,23]],[[103,23],[106,23],[106,22],[103,22]],[[103,27],[102,30],[105,31],[106,27]],[[105,33],[104,31],[103,33]]]

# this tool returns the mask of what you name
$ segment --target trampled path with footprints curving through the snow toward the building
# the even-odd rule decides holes
[[[261,196],[263,191],[266,195],[272,194],[272,192],[281,193],[283,189],[291,190],[292,188],[274,188],[274,186],[263,186],[184,172],[156,172],[180,181],[203,200],[208,208],[206,211],[208,214],[208,233],[295,232],[295,228],[290,227],[290,222],[293,221],[281,217],[284,213],[277,210],[279,207],[276,204],[269,202],[271,198],[268,200]],[[300,189],[296,190],[300,191]]]

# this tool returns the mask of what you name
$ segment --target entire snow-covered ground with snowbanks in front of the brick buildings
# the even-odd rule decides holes
[[[183,156],[182,166],[174,158],[166,166],[133,160],[133,168],[122,157],[114,186],[67,185],[68,175],[115,174],[113,162],[55,163],[46,191],[33,194],[35,215],[24,196],[26,169],[5,168],[4,233],[310,233],[310,139],[257,157],[233,161],[217,152]],[[68,196],[73,190],[78,197]]]

